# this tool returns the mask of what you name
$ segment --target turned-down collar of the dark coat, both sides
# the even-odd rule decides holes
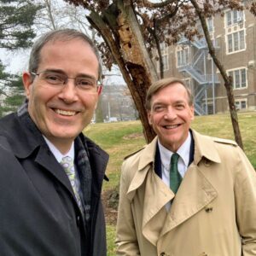
[[[6,138],[6,147],[12,151],[18,159],[26,159],[34,155],[34,161],[40,166],[44,166],[45,172],[50,172],[56,177],[67,189],[73,193],[71,184],[62,167],[50,152],[48,145],[44,141],[44,137],[33,123],[27,111],[19,113],[11,113],[0,120],[0,136]],[[90,161],[92,163],[97,188],[93,190],[95,193],[101,193],[102,178],[108,163],[108,154],[101,148],[96,146],[90,139],[79,135],[82,143],[88,146],[90,152]],[[43,170],[43,169],[42,169]],[[105,179],[108,179],[105,177]]]

